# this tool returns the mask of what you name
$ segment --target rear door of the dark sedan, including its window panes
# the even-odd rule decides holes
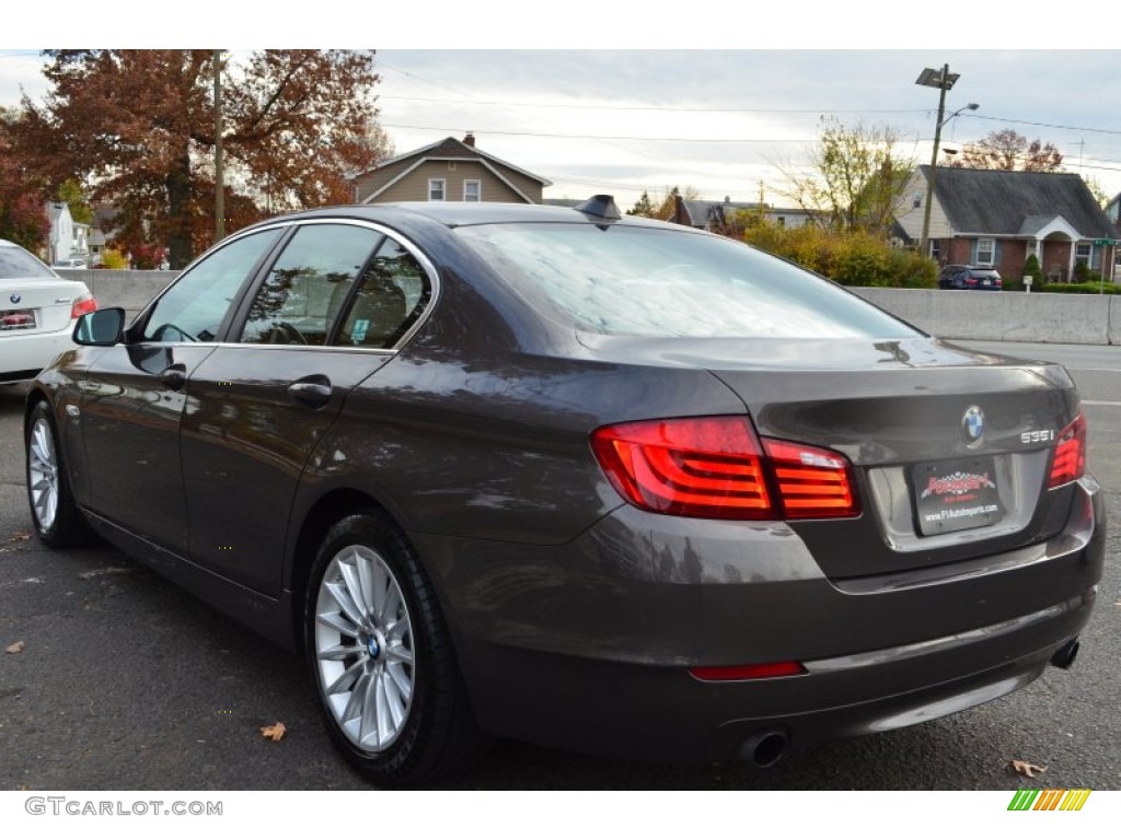
[[[401,260],[424,276],[374,225],[305,223],[247,298],[235,337],[192,372],[182,447],[195,562],[279,592],[305,463],[423,309],[391,280]]]

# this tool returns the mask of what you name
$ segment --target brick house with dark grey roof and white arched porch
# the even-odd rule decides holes
[[[930,167],[911,174],[896,205],[905,241],[923,236]],[[1036,254],[1051,281],[1069,282],[1076,262],[1110,274],[1117,230],[1086,183],[1072,172],[938,167],[930,205],[930,256],[939,264],[991,265],[1020,278]]]

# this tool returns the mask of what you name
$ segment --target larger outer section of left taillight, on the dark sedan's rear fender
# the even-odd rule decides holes
[[[631,504],[705,519],[768,519],[762,450],[742,417],[652,420],[596,429],[592,448]]]

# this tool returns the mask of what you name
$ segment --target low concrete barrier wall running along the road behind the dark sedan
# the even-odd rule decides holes
[[[83,281],[101,306],[122,307],[130,317],[178,276],[175,271],[72,269],[58,273]],[[943,338],[1121,344],[1121,295],[871,288],[853,291]]]

